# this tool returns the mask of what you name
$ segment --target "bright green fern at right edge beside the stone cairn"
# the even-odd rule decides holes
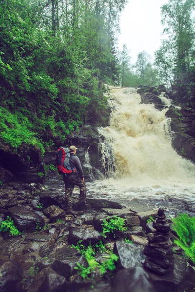
[[[179,214],[172,219],[173,228],[179,239],[174,242],[181,247],[188,259],[195,264],[195,217]]]

